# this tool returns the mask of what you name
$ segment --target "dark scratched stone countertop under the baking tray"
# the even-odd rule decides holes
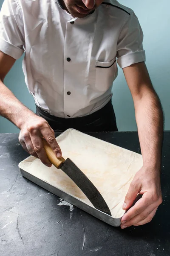
[[[56,134],[56,136],[59,134]],[[140,153],[136,132],[90,135]],[[18,134],[0,134],[0,255],[170,256],[170,132],[164,132],[163,203],[149,224],[121,230],[74,207],[22,177],[28,157]]]

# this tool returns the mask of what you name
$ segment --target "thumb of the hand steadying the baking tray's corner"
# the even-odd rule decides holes
[[[136,196],[138,195],[139,190],[140,184],[135,184],[132,181],[129,190],[125,196],[125,202],[122,206],[122,209],[127,210],[132,206],[134,200],[136,199]]]

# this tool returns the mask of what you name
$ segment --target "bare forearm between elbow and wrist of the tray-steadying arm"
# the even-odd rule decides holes
[[[143,164],[160,170],[163,113],[156,93],[150,91],[137,100],[135,113]]]

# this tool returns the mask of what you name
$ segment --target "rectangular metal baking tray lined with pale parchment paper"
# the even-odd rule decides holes
[[[19,163],[21,174],[111,226],[120,226],[121,218],[125,213],[122,210],[122,204],[130,182],[142,167],[142,156],[74,129],[66,130],[56,140],[62,149],[63,157],[71,158],[94,183],[108,204],[112,216],[95,209],[64,172],[57,170],[54,166],[51,168],[44,166],[33,156]]]

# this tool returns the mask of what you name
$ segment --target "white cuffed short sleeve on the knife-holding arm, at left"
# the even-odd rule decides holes
[[[0,11],[0,51],[18,59],[23,54],[23,21],[15,0],[4,0]]]

